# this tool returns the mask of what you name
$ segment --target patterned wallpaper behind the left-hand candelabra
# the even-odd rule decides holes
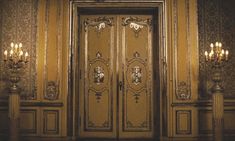
[[[30,54],[30,62],[21,74],[22,98],[36,98],[37,7],[37,0],[0,0],[0,98],[8,93],[3,51],[11,42],[21,42]]]

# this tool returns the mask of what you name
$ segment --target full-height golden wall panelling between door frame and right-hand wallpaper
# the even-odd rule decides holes
[[[168,0],[168,131],[196,137],[198,98],[197,0]]]

